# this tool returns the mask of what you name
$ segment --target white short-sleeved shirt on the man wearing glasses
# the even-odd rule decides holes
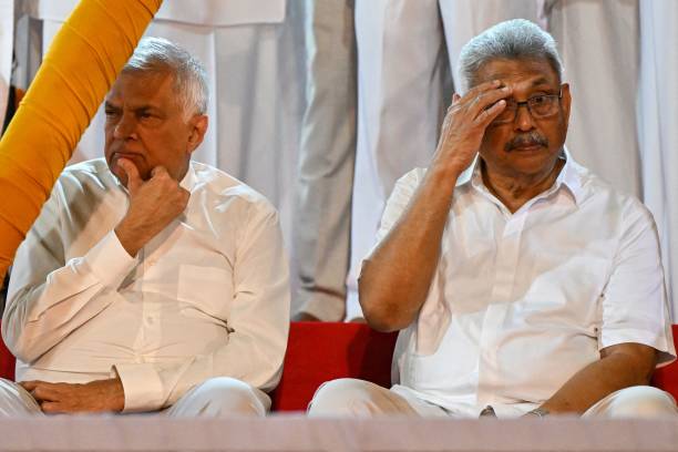
[[[511,212],[473,165],[454,191],[419,318],[401,331],[394,391],[453,412],[517,415],[551,398],[600,349],[638,342],[675,358],[656,226],[636,198],[566,163]],[[479,161],[480,162],[480,161]],[[381,240],[423,179],[403,176]]]

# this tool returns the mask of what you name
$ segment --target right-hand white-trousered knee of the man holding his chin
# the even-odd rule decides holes
[[[228,415],[266,415],[270,399],[249,384],[228,377],[206,380],[184,396],[172,414],[220,418]]]

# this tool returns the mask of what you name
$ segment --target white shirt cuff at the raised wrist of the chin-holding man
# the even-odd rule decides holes
[[[136,258],[127,254],[114,230],[106,234],[88,251],[85,261],[99,280],[113,290],[120,287],[136,265]]]

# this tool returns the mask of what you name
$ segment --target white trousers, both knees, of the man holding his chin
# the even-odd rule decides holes
[[[269,409],[270,398],[265,392],[234,378],[217,377],[193,388],[158,414],[171,418],[264,417]],[[27,390],[13,381],[0,379],[0,418],[24,415],[44,414]]]

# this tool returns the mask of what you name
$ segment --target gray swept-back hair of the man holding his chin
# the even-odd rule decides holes
[[[174,91],[184,112],[207,112],[207,75],[199,61],[173,42],[163,38],[143,38],[122,73],[170,73],[174,76]]]

